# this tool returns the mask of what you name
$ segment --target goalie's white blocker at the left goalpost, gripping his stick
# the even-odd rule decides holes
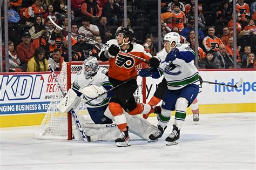
[[[77,93],[70,89],[66,96],[60,101],[58,109],[62,113],[69,112],[71,109],[77,108],[81,101],[81,98],[77,96]]]

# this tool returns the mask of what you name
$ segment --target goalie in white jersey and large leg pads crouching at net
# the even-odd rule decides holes
[[[77,96],[82,96],[86,100],[98,97],[113,88],[109,81],[109,77],[105,74],[108,69],[99,67],[98,61],[95,57],[90,57],[84,60],[83,69],[77,73],[75,81],[72,84],[72,89]],[[66,96],[69,96],[68,94]],[[86,135],[97,137],[97,140],[114,140],[119,137],[119,129],[116,124],[112,124],[113,116],[108,108],[109,100],[112,96],[112,91],[107,92],[103,96],[98,97],[86,103],[87,111],[90,114],[92,121],[83,119],[82,125]],[[68,103],[64,98],[61,103]],[[72,102],[76,103],[76,101]],[[77,108],[73,104],[68,104],[68,108],[61,108],[60,111],[66,112]],[[65,105],[62,105],[65,107]],[[139,137],[148,140],[149,135],[157,130],[157,127],[150,124],[149,121],[142,117],[135,115],[134,117],[125,113],[127,124],[130,126],[129,131],[138,135]],[[83,117],[80,117],[83,118]],[[77,127],[73,128],[75,139],[82,140]]]

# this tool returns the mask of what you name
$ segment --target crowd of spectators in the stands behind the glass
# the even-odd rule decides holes
[[[127,1],[128,3],[130,1]],[[216,0],[206,3],[194,0],[161,1],[161,37],[158,37],[157,1],[131,1],[127,27],[136,35],[136,43],[155,56],[158,39],[168,32],[178,32],[183,43],[195,49],[194,21],[198,20],[198,60],[200,69],[233,68],[233,16],[237,30],[237,66],[255,68],[256,0],[237,0],[237,13],[232,2]],[[101,46],[91,44],[116,38],[124,27],[123,0],[71,0],[72,60],[98,57]],[[56,71],[68,62],[68,6],[66,0],[7,0],[9,23],[9,71],[47,71],[48,63]],[[194,11],[198,8],[198,18]],[[4,30],[2,5],[2,29]],[[59,26],[55,28],[49,18]],[[4,33],[2,32],[3,39]],[[3,48],[4,51],[4,48]],[[3,53],[4,56],[4,53]],[[4,56],[5,57],[5,56]],[[4,66],[5,67],[5,66]]]

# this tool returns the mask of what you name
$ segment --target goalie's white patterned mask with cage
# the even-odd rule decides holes
[[[84,60],[83,69],[85,78],[91,77],[93,74],[96,74],[99,70],[99,63],[95,57],[89,57]]]

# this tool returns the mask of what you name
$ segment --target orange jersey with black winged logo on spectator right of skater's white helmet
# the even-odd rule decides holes
[[[203,39],[203,45],[205,46],[206,51],[219,51],[220,44],[223,44],[223,42],[218,37],[211,38],[207,36]]]

